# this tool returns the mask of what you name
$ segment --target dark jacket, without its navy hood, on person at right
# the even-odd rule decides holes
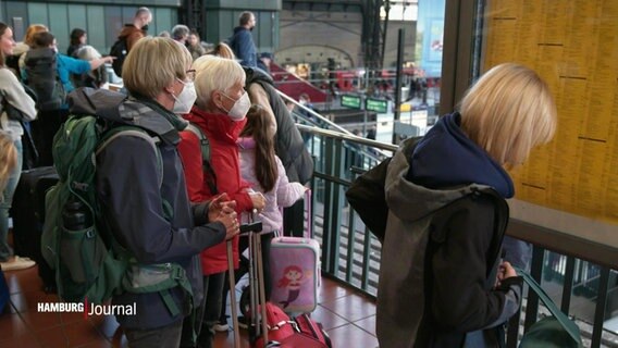
[[[489,186],[431,189],[406,179],[407,153],[395,153],[385,181],[380,346],[497,347],[521,294],[519,277],[493,288],[508,206]]]

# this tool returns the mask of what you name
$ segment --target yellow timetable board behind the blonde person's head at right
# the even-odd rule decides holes
[[[554,140],[512,171],[516,198],[618,223],[618,1],[490,1],[483,71],[534,69],[558,108]]]

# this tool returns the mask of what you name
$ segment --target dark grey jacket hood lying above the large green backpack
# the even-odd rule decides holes
[[[77,88],[69,94],[67,101],[72,114],[97,115],[111,122],[135,125],[173,145],[181,141],[178,132],[188,124],[154,100],[136,99],[107,89]]]

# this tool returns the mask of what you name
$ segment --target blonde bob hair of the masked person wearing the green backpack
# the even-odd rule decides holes
[[[145,37],[131,49],[122,66],[126,89],[148,98],[157,96],[178,78],[187,78],[191,54],[182,44],[165,37]]]

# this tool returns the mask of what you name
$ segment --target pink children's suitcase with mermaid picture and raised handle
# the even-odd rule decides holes
[[[311,191],[307,190],[305,237],[275,237],[271,243],[271,302],[287,313],[310,313],[318,306],[320,244],[311,239]]]

